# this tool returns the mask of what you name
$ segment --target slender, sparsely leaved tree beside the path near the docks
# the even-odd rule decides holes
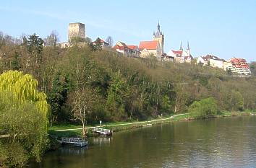
[[[72,96],[72,115],[82,123],[82,136],[86,136],[85,125],[97,99],[95,91],[88,87],[77,89]]]

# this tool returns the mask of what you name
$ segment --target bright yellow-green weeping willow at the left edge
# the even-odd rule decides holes
[[[48,104],[37,87],[33,76],[20,71],[0,75],[0,133],[7,137],[0,138],[0,150],[7,151],[1,158],[8,166],[17,167],[31,158],[40,161],[46,148]]]

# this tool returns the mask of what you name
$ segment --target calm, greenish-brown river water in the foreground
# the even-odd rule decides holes
[[[256,116],[155,125],[48,152],[46,168],[256,167]]]

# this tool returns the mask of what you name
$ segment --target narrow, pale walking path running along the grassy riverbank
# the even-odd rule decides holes
[[[179,115],[187,115],[187,113],[184,114],[179,114]],[[120,123],[120,124],[111,124],[111,125],[101,125],[101,127],[106,127],[106,126],[119,126],[119,125],[133,125],[133,124],[142,124],[142,123],[153,123],[156,121],[161,121],[161,120],[171,120],[176,118],[179,115],[172,115],[169,118],[162,118],[162,119],[157,119],[157,120],[150,120],[150,121],[140,121],[140,122],[135,122],[135,123]],[[95,127],[100,127],[100,126],[95,126]],[[95,128],[95,127],[85,127],[86,129],[90,128]],[[63,129],[63,130],[54,130],[54,131],[76,131],[76,130],[82,130],[82,128],[72,128],[72,129]]]

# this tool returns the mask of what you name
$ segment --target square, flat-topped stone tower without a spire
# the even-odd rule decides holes
[[[85,39],[85,24],[69,23],[69,41],[72,37],[81,37]]]

